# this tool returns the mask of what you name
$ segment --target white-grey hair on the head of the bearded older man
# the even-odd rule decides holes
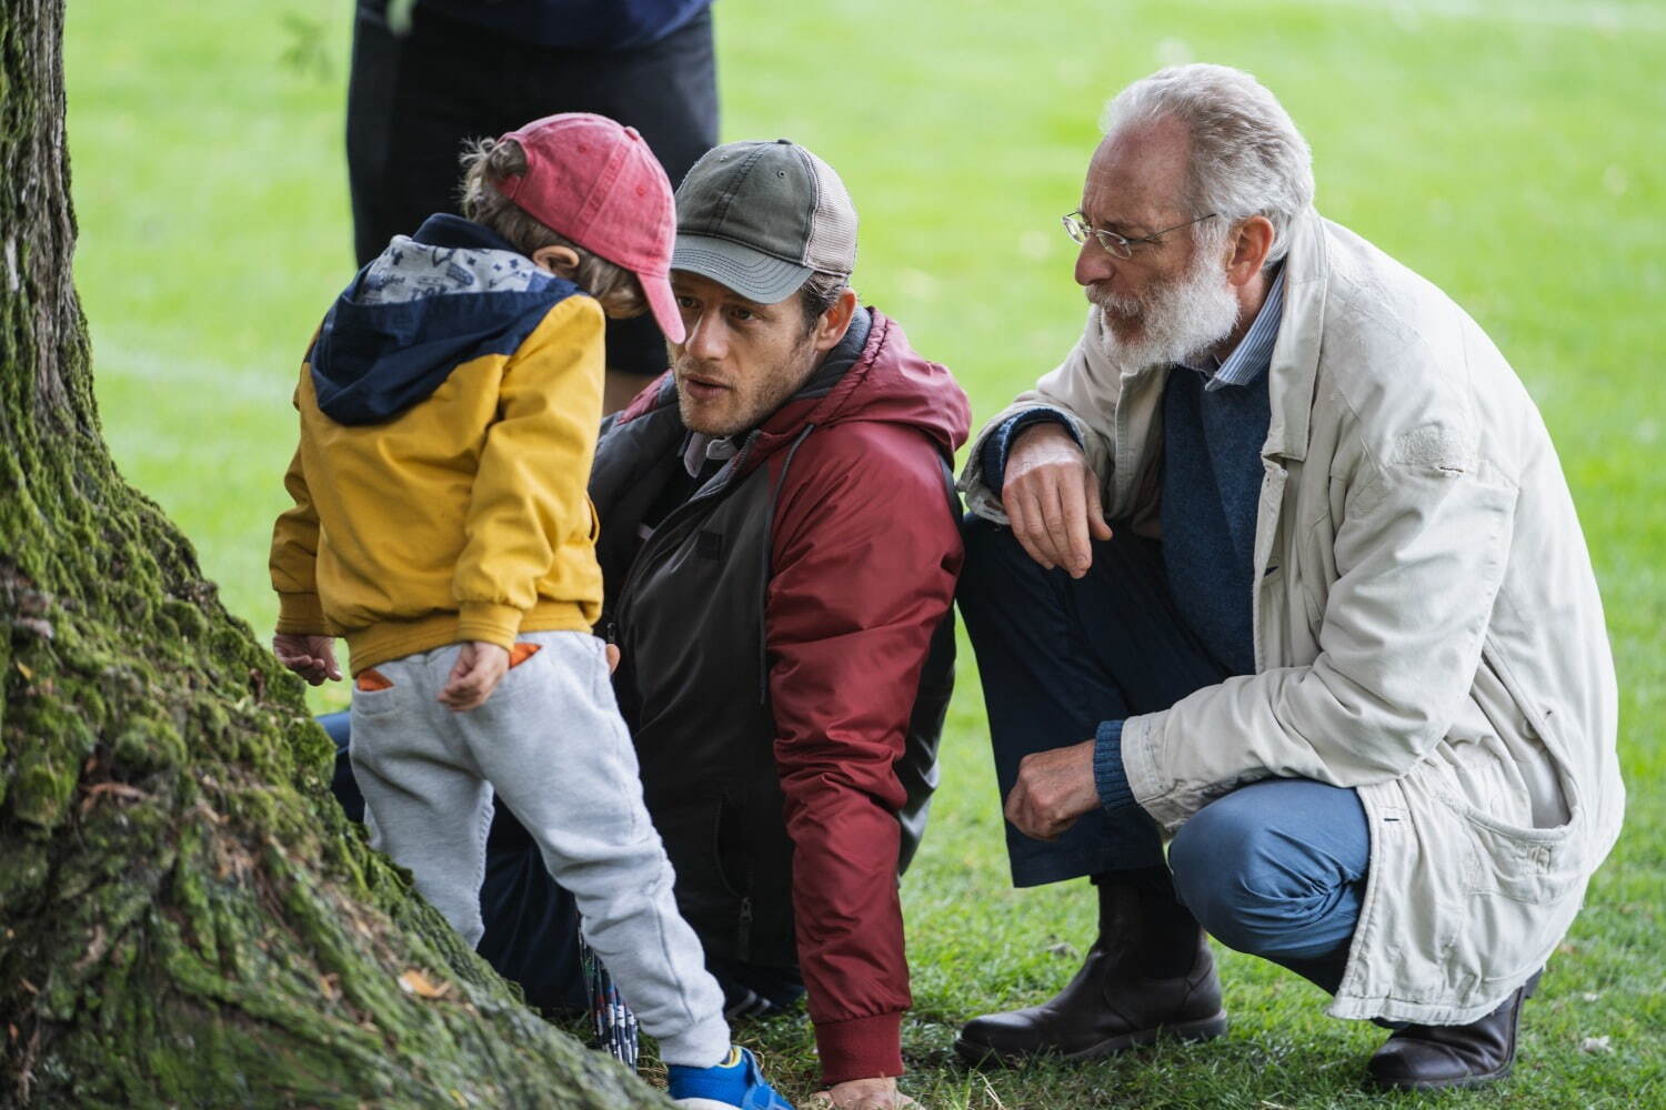
[[[1243,70],[1175,65],[1135,82],[1105,105],[1100,130],[1178,120],[1191,138],[1186,206],[1225,221],[1195,225],[1200,243],[1226,241],[1231,221],[1273,223],[1271,266],[1289,250],[1289,228],[1313,205],[1313,151],[1278,98]]]

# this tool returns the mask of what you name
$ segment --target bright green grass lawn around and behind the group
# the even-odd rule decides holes
[[[352,271],[348,10],[68,12],[77,281],[105,434],[262,636],[297,359]],[[1384,1098],[1359,1088],[1381,1030],[1326,1018],[1319,992],[1231,954],[1223,1040],[1076,1068],[953,1060],[961,1020],[1051,994],[1091,940],[1085,885],[1006,882],[965,652],[933,830],[903,885],[906,1090],[990,1110],[1666,1105],[1666,7],[720,0],[716,13],[725,138],[788,135],[841,171],[863,218],[858,286],[960,374],[976,419],[1081,325],[1058,216],[1105,98],[1168,62],[1254,72],[1313,143],[1321,210],[1468,306],[1538,398],[1619,666],[1626,834],[1526,1010],[1516,1077]],[[791,1093],[813,1090],[801,1015],[743,1035]]]

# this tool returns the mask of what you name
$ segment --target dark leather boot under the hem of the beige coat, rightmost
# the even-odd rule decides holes
[[[1536,972],[1496,1010],[1468,1025],[1406,1025],[1394,1032],[1366,1065],[1371,1082],[1393,1090],[1436,1090],[1504,1078],[1516,1063],[1521,1003],[1538,985]]]

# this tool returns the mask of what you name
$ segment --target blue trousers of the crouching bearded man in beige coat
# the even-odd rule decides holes
[[[1006,528],[968,516],[963,531],[958,601],[1003,799],[1025,756],[1080,744],[1100,721],[1168,709],[1228,677],[1176,611],[1156,541],[1118,528],[1093,543],[1093,569],[1071,579],[1043,571]],[[1223,944],[1334,990],[1369,849],[1353,790],[1269,779],[1193,815],[1168,865],[1180,900]],[[1141,810],[1118,820],[1095,810],[1051,842],[1008,824],[1006,850],[1020,887],[1163,864]]]

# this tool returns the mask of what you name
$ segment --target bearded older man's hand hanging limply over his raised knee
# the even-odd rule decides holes
[[[1090,539],[1111,538],[1100,479],[1076,441],[1053,421],[1018,433],[1006,453],[1001,504],[1030,557],[1050,571],[1061,566],[1071,577],[1093,566]]]

